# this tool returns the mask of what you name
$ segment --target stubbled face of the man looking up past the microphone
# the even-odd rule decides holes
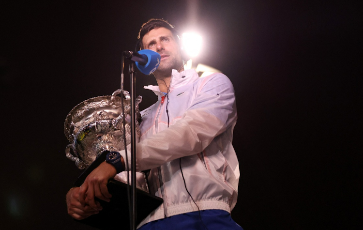
[[[171,31],[164,27],[149,31],[142,38],[144,48],[158,52],[161,56],[160,65],[155,74],[171,74],[172,69],[179,70],[183,66],[180,47]]]

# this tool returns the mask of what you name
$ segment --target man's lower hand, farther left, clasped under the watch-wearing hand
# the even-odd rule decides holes
[[[66,195],[68,214],[76,220],[81,220],[90,215],[98,214],[102,207],[99,202],[96,202],[97,209],[91,208],[89,205],[82,205],[79,202],[79,187],[71,188]],[[87,200],[88,201],[88,200]]]

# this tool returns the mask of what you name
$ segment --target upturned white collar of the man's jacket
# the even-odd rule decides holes
[[[199,76],[194,69],[184,70],[180,73],[173,69],[171,71],[170,92],[176,88],[194,82],[198,78]],[[144,86],[144,89],[153,91],[157,96],[164,96],[164,93],[160,92],[159,86],[157,85]]]

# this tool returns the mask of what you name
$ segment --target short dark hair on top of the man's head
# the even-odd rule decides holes
[[[145,34],[147,34],[148,32],[150,32],[153,29],[157,29],[160,27],[164,27],[164,28],[168,29],[169,31],[171,31],[171,33],[174,36],[174,39],[176,41],[179,40],[178,31],[174,29],[174,25],[171,25],[164,19],[151,18],[149,21],[142,24],[141,29],[138,32],[138,36],[137,36],[138,41],[137,41],[136,49],[144,49],[144,47],[142,45],[142,39],[145,36]]]

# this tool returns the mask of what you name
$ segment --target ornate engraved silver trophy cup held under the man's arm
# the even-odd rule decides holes
[[[111,96],[90,98],[78,104],[67,115],[64,134],[71,144],[66,147],[65,152],[68,159],[76,162],[78,169],[90,166],[106,150],[121,151],[131,143],[130,94],[123,91],[123,117],[121,97],[117,96],[120,93],[119,89]],[[140,137],[141,115],[138,104],[141,101],[141,96],[136,97],[136,142]],[[123,120],[126,144],[123,138]],[[127,183],[127,173],[121,172],[114,179]],[[148,192],[146,177],[142,172],[136,172],[136,187]]]

